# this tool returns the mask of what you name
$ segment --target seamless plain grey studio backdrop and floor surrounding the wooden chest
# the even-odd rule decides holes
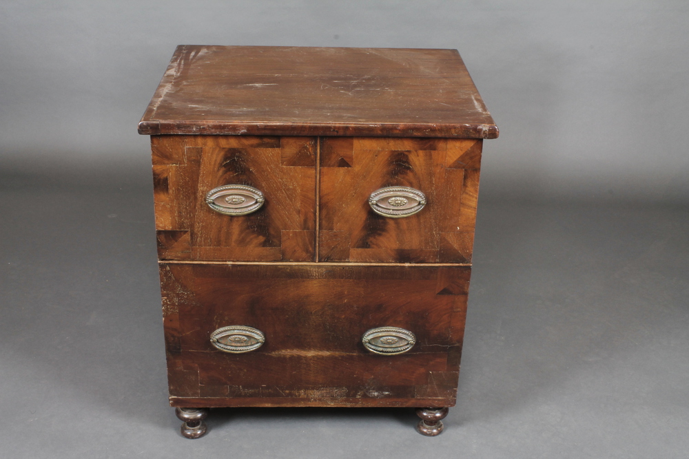
[[[0,1],[0,457],[684,458],[686,1]],[[178,44],[456,48],[484,145],[457,407],[167,407],[149,140]]]

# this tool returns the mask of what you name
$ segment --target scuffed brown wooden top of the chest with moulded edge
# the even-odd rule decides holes
[[[496,138],[456,50],[180,45],[140,134]]]

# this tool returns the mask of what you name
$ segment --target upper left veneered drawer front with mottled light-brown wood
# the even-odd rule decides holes
[[[151,144],[158,257],[313,261],[316,138],[152,136]],[[212,209],[208,193],[227,185],[260,191],[263,205],[246,215]],[[222,198],[229,209],[251,193]]]

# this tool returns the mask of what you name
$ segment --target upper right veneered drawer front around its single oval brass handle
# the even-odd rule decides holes
[[[471,263],[481,149],[480,139],[321,138],[318,259]],[[387,187],[421,191],[426,205],[379,215],[369,197]]]

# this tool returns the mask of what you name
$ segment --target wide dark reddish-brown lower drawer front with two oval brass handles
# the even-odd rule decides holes
[[[470,273],[161,264],[171,404],[452,406]]]

